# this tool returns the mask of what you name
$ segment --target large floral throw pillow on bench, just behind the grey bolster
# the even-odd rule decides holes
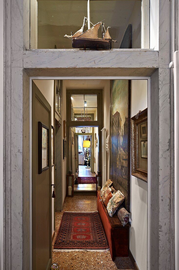
[[[113,217],[117,208],[121,205],[124,199],[125,199],[124,195],[120,192],[120,190],[118,190],[109,200],[107,210],[110,217]]]

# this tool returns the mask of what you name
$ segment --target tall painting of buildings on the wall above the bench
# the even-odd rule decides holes
[[[110,81],[110,179],[129,210],[130,80]]]

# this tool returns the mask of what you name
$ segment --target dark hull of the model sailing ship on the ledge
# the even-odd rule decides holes
[[[78,49],[111,49],[111,41],[103,39],[72,38],[72,47]]]

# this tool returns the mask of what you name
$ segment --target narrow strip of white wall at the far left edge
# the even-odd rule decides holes
[[[3,269],[3,2],[0,1],[0,269]]]

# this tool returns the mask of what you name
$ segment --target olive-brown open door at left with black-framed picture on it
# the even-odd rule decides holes
[[[41,151],[46,151],[48,166],[39,173],[40,143],[39,122],[49,128]],[[48,129],[47,129],[48,130]],[[44,138],[46,138],[44,137]],[[42,138],[40,139],[42,140]],[[41,158],[43,157],[41,152]],[[45,152],[44,152],[45,153]],[[32,84],[32,259],[33,270],[48,270],[52,264],[52,158],[51,158],[51,106],[37,88]],[[42,161],[42,167],[44,160]]]

